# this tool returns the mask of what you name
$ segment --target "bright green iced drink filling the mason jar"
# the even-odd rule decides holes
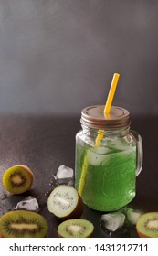
[[[79,137],[76,143],[75,187],[82,186],[84,203],[100,211],[116,210],[135,197],[135,144],[124,138],[106,144],[83,144]]]

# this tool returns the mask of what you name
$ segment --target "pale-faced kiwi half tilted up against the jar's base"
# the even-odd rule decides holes
[[[83,202],[74,187],[58,185],[47,199],[47,208],[59,219],[75,219],[83,212]]]

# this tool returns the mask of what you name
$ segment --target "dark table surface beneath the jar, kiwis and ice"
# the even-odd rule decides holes
[[[129,207],[158,211],[158,117],[133,116],[132,129],[142,135],[143,166],[137,177],[137,194]],[[0,117],[0,216],[12,210],[18,201],[37,197],[40,211],[48,221],[47,237],[58,237],[61,222],[47,210],[47,192],[59,165],[74,169],[75,134],[80,130],[79,116],[1,116]],[[2,176],[13,165],[27,165],[34,173],[33,187],[22,195],[5,191]],[[89,219],[95,227],[93,237],[106,237],[100,228],[103,212],[85,206],[81,218]],[[120,233],[118,237],[134,237],[135,232]]]

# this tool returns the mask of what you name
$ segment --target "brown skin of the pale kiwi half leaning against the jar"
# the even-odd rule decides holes
[[[69,185],[58,185],[58,187],[62,188],[62,187],[71,187]],[[58,187],[56,187],[58,189]],[[55,189],[56,189],[55,188]],[[58,219],[61,219],[61,220],[67,220],[67,219],[77,219],[77,218],[80,218],[80,216],[82,215],[83,213],[83,210],[84,210],[84,204],[83,204],[83,201],[82,201],[82,198],[80,197],[78,191],[74,188],[74,187],[71,187],[72,189],[74,189],[76,191],[76,193],[78,194],[78,202],[77,202],[77,205],[76,205],[76,208],[73,209],[73,211],[71,211],[68,215],[65,215],[65,216],[62,216],[62,217],[59,217],[58,215],[56,215],[54,212],[52,212],[51,210],[48,210],[50,212],[52,212],[56,217],[58,217]],[[48,198],[49,200],[49,198]],[[47,207],[48,207],[48,200],[47,200]]]

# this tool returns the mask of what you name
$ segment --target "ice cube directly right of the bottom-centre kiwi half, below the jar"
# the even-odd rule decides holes
[[[103,214],[101,216],[101,227],[108,229],[110,232],[114,232],[123,226],[124,220],[125,215],[121,212]]]

